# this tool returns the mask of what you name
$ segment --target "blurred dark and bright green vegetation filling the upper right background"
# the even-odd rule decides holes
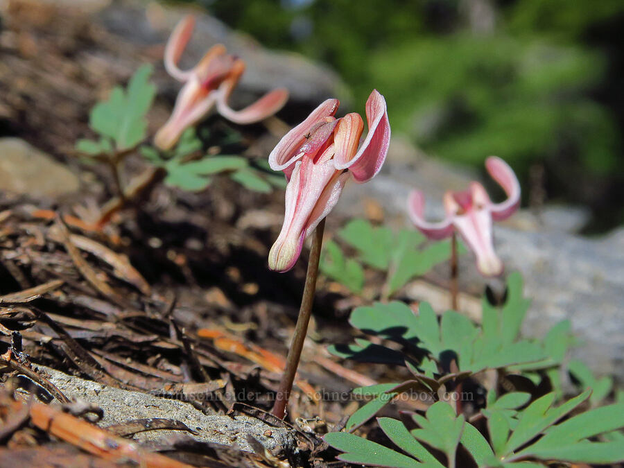
[[[358,105],[376,87],[431,155],[507,159],[525,203],[586,205],[587,232],[624,221],[623,0],[190,1],[330,64]]]

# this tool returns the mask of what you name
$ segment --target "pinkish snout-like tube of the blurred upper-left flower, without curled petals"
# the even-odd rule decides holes
[[[173,148],[182,132],[210,111],[215,99],[215,92],[206,92],[198,79],[191,77],[177,95],[171,117],[156,132],[155,145],[162,150]]]

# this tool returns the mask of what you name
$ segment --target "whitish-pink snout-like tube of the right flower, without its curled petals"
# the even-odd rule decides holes
[[[476,255],[476,265],[484,276],[496,276],[503,272],[503,262],[494,252],[492,215],[489,209],[470,209],[453,219],[457,231]]]

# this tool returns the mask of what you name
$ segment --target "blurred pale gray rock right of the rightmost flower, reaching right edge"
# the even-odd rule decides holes
[[[508,270],[519,270],[532,306],[528,336],[543,336],[569,319],[582,345],[573,349],[597,374],[624,383],[624,232],[584,239],[564,232],[496,227],[496,249]]]

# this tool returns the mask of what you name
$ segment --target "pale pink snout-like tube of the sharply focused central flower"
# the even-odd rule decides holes
[[[347,177],[333,167],[331,159],[314,164],[306,157],[297,161],[286,187],[284,225],[269,252],[269,268],[286,272],[299,258],[306,236],[336,205]],[[348,175],[348,174],[346,174]]]

